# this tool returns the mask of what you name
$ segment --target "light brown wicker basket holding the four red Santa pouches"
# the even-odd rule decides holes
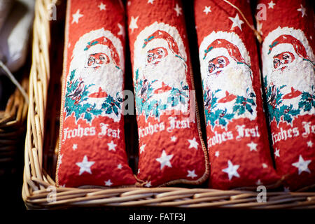
[[[315,208],[315,192],[267,193],[267,202],[258,202],[258,193],[244,190],[207,188],[57,188],[55,146],[59,123],[56,96],[60,80],[50,79],[50,22],[48,5],[36,1],[33,62],[29,78],[29,111],[25,141],[25,170],[22,198],[27,209],[64,207],[188,207],[283,209]],[[54,40],[55,41],[55,40]],[[52,43],[53,44],[53,43]],[[51,48],[53,49],[53,48]],[[49,91],[49,93],[48,93]],[[54,91],[57,91],[54,92]],[[50,97],[52,102],[49,103]]]

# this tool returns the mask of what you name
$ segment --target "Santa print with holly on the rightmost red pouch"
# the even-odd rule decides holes
[[[278,27],[262,43],[262,65],[270,120],[292,123],[314,113],[314,54],[300,29]]]

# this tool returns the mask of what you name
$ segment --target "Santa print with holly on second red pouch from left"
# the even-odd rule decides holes
[[[159,118],[165,111],[188,111],[186,52],[175,27],[153,23],[134,42],[137,114]]]

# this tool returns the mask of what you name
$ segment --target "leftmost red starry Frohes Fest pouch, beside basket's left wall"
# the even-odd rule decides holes
[[[118,109],[122,104],[117,98],[123,90],[124,28],[120,1],[68,1],[58,186],[136,183],[127,163],[124,119]],[[116,73],[114,80],[106,68]]]

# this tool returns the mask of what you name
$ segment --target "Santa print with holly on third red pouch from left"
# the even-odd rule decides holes
[[[235,44],[237,43],[237,45]],[[213,32],[200,45],[200,65],[207,125],[256,118],[256,99],[248,52],[236,34]]]

